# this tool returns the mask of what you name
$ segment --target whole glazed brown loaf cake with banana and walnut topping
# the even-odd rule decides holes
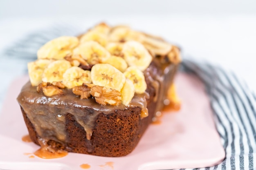
[[[18,96],[31,140],[68,152],[129,154],[168,99],[179,63],[176,46],[127,26],[99,24],[48,42],[28,64],[30,82]]]

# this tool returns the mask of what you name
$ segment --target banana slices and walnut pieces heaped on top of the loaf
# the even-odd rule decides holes
[[[32,86],[47,97],[71,89],[81,99],[94,97],[102,105],[128,106],[135,93],[145,93],[143,71],[155,57],[180,61],[180,51],[161,38],[128,26],[101,23],[77,37],[47,42],[38,59],[27,64]]]

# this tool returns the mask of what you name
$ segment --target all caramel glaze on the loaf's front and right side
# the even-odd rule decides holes
[[[146,82],[150,82],[151,87],[154,88],[154,101],[160,100],[157,101],[155,113],[163,108],[163,100],[166,99],[166,89],[171,85],[171,77],[173,77],[176,68],[177,65],[170,63],[163,65],[159,60],[154,59],[144,71]],[[92,97],[80,99],[72,93],[72,89],[65,88],[63,90],[65,95],[46,97],[38,93],[36,87],[31,86],[30,82],[28,82],[23,86],[17,98],[18,103],[34,126],[38,138],[44,139],[46,142],[50,140],[61,144],[68,142],[65,128],[65,117],[67,114],[73,115],[74,119],[84,128],[88,140],[92,136],[95,120],[100,113],[109,115],[115,113],[115,110],[139,107],[141,108],[141,118],[146,117],[148,114],[147,102],[149,95],[147,91],[150,91],[150,89],[147,89],[144,94],[135,94],[129,106],[124,106],[123,104],[103,106],[97,104]]]

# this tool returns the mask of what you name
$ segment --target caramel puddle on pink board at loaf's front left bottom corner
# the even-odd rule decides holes
[[[54,158],[61,158],[67,155],[67,151],[65,150],[54,150],[50,146],[46,144],[43,139],[38,140],[41,148],[36,150],[34,154],[43,159],[54,159]]]

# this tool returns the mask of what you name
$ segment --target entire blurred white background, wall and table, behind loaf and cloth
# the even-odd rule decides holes
[[[0,0],[0,52],[55,23],[82,31],[102,21],[163,36],[184,57],[235,71],[256,91],[256,0]],[[0,56],[0,104],[25,68]]]

